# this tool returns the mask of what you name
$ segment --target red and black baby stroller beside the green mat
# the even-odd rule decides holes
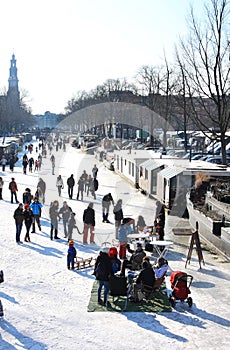
[[[189,288],[191,286],[192,280],[193,277],[191,275],[187,275],[185,272],[172,272],[170,276],[172,293],[169,296],[169,302],[172,307],[175,307],[177,300],[188,303],[189,307],[192,306],[192,298],[188,297],[188,294],[191,293]]]

